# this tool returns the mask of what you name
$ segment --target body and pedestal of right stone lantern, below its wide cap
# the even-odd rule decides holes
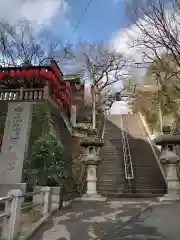
[[[167,194],[160,198],[160,201],[180,199],[180,183],[177,175],[178,159],[179,157],[169,149],[164,150],[160,156],[161,163],[166,165],[167,179]]]

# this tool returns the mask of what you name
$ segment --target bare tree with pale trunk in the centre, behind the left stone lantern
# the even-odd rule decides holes
[[[126,60],[103,44],[81,43],[77,47],[76,61],[82,64],[91,83],[93,128],[96,127],[96,108],[108,104],[110,86],[122,80]]]

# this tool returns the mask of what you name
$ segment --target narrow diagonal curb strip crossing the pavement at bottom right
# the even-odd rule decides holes
[[[119,222],[117,222],[116,226],[113,227],[113,229],[111,229],[107,234],[105,234],[105,236],[103,236],[103,238],[101,240],[109,240],[109,237],[111,236],[111,234],[114,234],[114,232],[117,232],[117,229],[118,229],[118,232],[121,231],[125,226],[127,226],[128,224],[133,222],[136,218],[138,218],[143,212],[145,212],[149,209],[153,209],[154,207],[156,207],[158,205],[159,204],[157,202],[150,203],[150,204],[148,204],[147,207],[142,208],[137,214],[132,216],[130,219],[128,219],[127,221],[124,221],[124,223],[120,223],[120,226],[118,225]]]

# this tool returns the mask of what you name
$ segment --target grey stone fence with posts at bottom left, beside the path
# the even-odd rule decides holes
[[[24,209],[23,203],[25,198],[33,198],[32,206],[37,206],[38,204],[41,213],[41,218],[39,219],[41,225],[49,215],[60,208],[60,204],[62,205],[60,188],[44,186],[35,187],[34,190],[34,192],[23,194],[20,189],[14,189],[10,190],[6,197],[0,198],[0,204],[5,203],[4,212],[0,214],[0,221],[2,222],[1,239],[19,239],[21,232],[21,211]],[[38,226],[38,221],[36,225]],[[30,234],[31,232],[26,233],[28,239],[30,239]],[[25,239],[27,239],[26,236]]]

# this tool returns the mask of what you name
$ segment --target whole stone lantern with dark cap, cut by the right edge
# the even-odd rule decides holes
[[[180,144],[180,136],[164,134],[155,140],[156,145],[162,146],[160,162],[166,170],[167,194],[160,200],[180,199],[180,183],[177,175],[177,164],[179,156],[176,154],[175,147]]]

